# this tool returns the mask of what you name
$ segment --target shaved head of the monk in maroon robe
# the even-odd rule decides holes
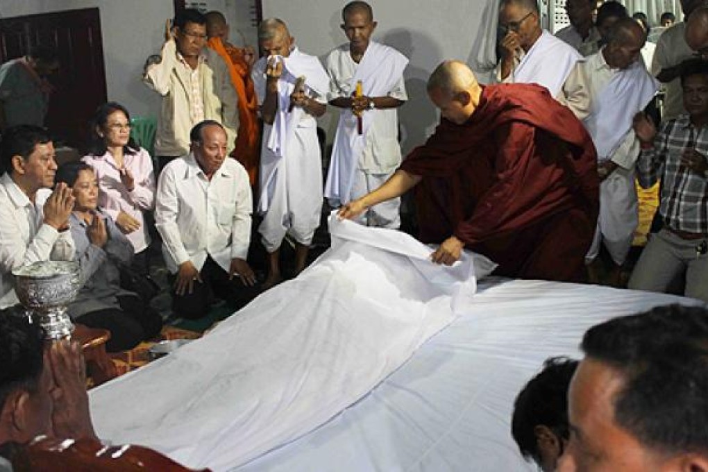
[[[428,79],[428,96],[440,108],[440,115],[457,125],[469,120],[479,104],[481,87],[467,64],[445,61]]]

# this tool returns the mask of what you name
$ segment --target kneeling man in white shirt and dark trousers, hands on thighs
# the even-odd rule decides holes
[[[160,174],[155,226],[174,286],[172,310],[183,318],[202,318],[212,294],[236,301],[239,290],[256,283],[246,262],[253,205],[244,166],[226,159],[224,127],[200,122],[190,139],[190,153]]]

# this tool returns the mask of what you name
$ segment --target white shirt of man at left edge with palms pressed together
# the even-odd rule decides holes
[[[0,177],[0,309],[18,303],[12,270],[40,260],[74,259],[71,231],[59,233],[44,222],[40,190],[31,202],[8,173]]]

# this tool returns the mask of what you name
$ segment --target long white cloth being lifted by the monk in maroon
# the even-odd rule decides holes
[[[364,396],[462,314],[475,274],[493,270],[467,253],[435,265],[430,248],[399,231],[334,218],[330,229],[331,249],[297,279],[93,389],[98,436],[190,467],[244,464]]]

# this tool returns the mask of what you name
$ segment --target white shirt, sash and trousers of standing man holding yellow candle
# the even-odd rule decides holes
[[[377,42],[370,42],[359,64],[354,62],[349,45],[329,52],[325,67],[330,76],[329,100],[351,96],[357,81],[363,94],[408,100],[403,71],[409,60],[400,52]],[[355,185],[370,175],[383,182],[401,164],[396,108],[366,110],[362,113],[363,134],[357,132],[357,120],[351,110],[341,110],[324,195],[334,207],[365,195]],[[355,175],[355,174],[367,175]],[[400,224],[399,199],[389,205],[376,205],[358,220],[372,226],[396,228]],[[393,205],[392,205],[393,204]]]

